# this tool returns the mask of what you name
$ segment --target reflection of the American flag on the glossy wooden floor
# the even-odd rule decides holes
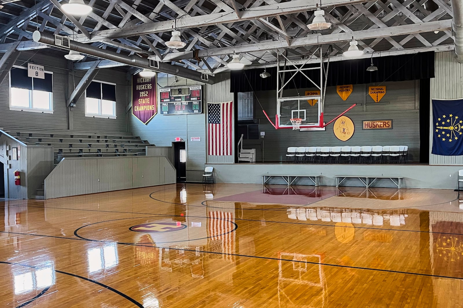
[[[208,219],[208,236],[210,249],[222,253],[222,259],[234,260],[235,254],[235,203],[225,202],[215,205],[228,211],[210,211]]]

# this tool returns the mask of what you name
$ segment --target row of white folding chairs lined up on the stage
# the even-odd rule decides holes
[[[408,163],[408,146],[291,146],[288,148],[286,161],[294,163]]]

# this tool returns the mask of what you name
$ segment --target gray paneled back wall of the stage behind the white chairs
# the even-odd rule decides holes
[[[371,84],[374,85],[374,84]],[[342,146],[342,145],[408,145],[409,159],[419,159],[419,106],[416,95],[416,82],[385,82],[386,95],[379,103],[375,103],[367,93],[368,86],[354,85],[353,91],[346,101],[343,101],[336,92],[336,87],[328,87],[325,96],[324,121],[328,122],[334,117],[357,103],[353,109],[346,113],[355,125],[355,132],[348,141],[338,140],[333,133],[333,124],[325,131],[293,131],[291,129],[278,129],[269,123],[262,109],[255,101],[254,116],[259,120],[260,131],[265,132],[264,159],[265,161],[284,160],[286,149],[289,146]],[[376,84],[378,85],[378,84]],[[304,95],[306,89],[299,89]],[[286,90],[285,97],[297,96],[296,90]],[[257,91],[256,97],[270,119],[275,122],[276,91]],[[317,105],[310,106],[316,111]],[[393,120],[393,129],[389,130],[362,130],[362,121],[366,120]],[[245,148],[257,147],[259,140],[246,140]],[[259,151],[257,149],[257,151]],[[262,152],[258,153],[257,160]]]

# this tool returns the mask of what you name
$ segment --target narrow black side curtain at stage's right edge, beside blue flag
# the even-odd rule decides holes
[[[429,163],[430,79],[419,80],[419,162]]]

